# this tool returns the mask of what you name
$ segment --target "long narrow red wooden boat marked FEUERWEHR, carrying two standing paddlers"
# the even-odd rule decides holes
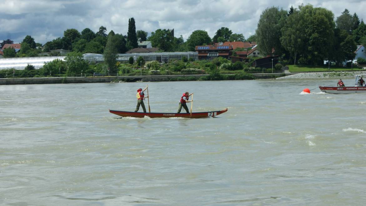
[[[203,118],[203,117],[214,117],[220,115],[224,112],[227,112],[228,108],[223,109],[221,111],[211,111],[211,112],[192,112],[191,113],[160,113],[160,112],[126,112],[126,111],[117,111],[109,109],[109,112],[119,115],[121,117],[145,117],[148,116],[150,118],[155,117],[185,117],[185,118]]]

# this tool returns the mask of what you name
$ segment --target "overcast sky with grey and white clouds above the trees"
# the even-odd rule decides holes
[[[205,30],[212,38],[221,27],[245,38],[255,33],[261,13],[268,7],[288,10],[301,4],[323,7],[340,16],[347,8],[366,20],[365,0],[2,0],[0,2],[0,42],[10,38],[20,43],[31,35],[44,44],[62,37],[66,29],[80,32],[100,26],[107,33],[127,35],[128,19],[136,30],[149,34],[157,29],[174,29],[175,37],[186,40],[194,30]]]

